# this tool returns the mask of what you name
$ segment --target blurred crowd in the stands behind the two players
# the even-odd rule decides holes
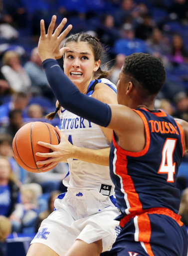
[[[57,23],[67,17],[72,33],[84,31],[101,40],[106,50],[102,64],[113,67],[115,84],[126,55],[159,57],[167,79],[156,108],[188,121],[188,0],[0,0],[0,215],[15,232],[36,232],[53,210],[54,198],[66,191],[66,163],[31,173],[18,166],[11,152],[16,131],[26,122],[46,121],[43,116],[55,108],[37,51],[39,21],[43,18],[47,27],[53,14]],[[63,59],[58,62],[62,67]],[[51,124],[59,126],[56,117]],[[187,181],[185,153],[177,185],[188,226]]]

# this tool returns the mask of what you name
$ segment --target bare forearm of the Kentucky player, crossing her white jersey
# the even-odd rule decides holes
[[[71,150],[71,158],[108,166],[109,153],[109,147],[103,149],[90,149],[85,147],[73,146]]]

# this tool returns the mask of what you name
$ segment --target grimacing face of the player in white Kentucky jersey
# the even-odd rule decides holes
[[[65,52],[64,72],[83,93],[86,93],[94,72],[100,65],[95,61],[93,52],[86,42],[70,42],[66,45],[70,49]]]

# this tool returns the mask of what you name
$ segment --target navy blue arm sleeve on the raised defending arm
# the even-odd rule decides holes
[[[61,106],[100,126],[108,126],[112,115],[108,104],[81,93],[55,59],[46,59],[42,64],[50,87]]]

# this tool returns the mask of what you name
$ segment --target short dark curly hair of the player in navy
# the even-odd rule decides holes
[[[148,53],[133,53],[127,56],[122,67],[124,74],[138,82],[134,84],[141,96],[157,95],[166,79],[162,61]]]

